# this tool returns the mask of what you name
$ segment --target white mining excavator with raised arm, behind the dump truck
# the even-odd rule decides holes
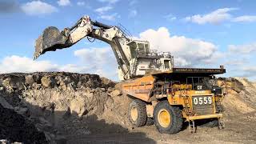
[[[35,42],[34,59],[47,51],[69,48],[86,37],[110,44],[118,62],[120,80],[171,70],[174,66],[170,53],[150,50],[149,42],[128,38],[120,27],[91,21],[89,16],[80,18],[74,26],[62,31],[54,26],[46,28]]]

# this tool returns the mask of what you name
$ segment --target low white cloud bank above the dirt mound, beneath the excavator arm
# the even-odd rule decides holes
[[[0,61],[0,74],[12,72],[66,71],[99,74],[117,80],[117,63],[110,47],[76,50],[74,56],[81,63],[58,65],[50,61],[34,61],[17,55],[7,56]]]

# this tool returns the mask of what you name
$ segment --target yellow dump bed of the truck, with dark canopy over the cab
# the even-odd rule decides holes
[[[214,74],[224,74],[226,69],[222,66],[220,69],[200,69],[200,68],[172,68],[165,72],[154,72],[146,74],[142,78],[135,78],[122,83],[122,91],[135,98],[150,102],[150,94],[154,89],[154,83],[158,77],[166,77],[166,75],[175,77],[203,77]]]

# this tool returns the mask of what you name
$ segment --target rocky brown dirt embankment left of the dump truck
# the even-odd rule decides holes
[[[82,120],[91,121],[88,117],[92,115],[99,121],[128,126],[129,98],[115,89],[115,85],[95,74],[0,74],[2,97],[54,142],[65,141],[66,135],[101,131],[104,127],[91,129],[88,126],[91,122]]]

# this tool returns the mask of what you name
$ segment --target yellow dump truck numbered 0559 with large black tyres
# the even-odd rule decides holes
[[[225,72],[223,66],[172,68],[123,82],[123,93],[134,99],[129,107],[130,122],[134,126],[154,123],[159,132],[167,134],[178,133],[184,122],[195,132],[194,121],[202,119],[209,126],[223,128],[221,102],[225,92],[214,74]]]

